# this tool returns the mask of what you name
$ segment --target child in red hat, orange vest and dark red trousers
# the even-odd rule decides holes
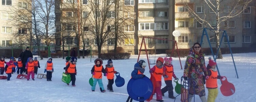
[[[156,81],[156,86],[155,86],[155,93],[156,93],[156,101],[158,102],[163,102],[162,100],[162,92],[161,92],[161,85],[162,85],[162,74],[163,74],[163,58],[158,57],[156,60],[156,65],[150,69],[150,73],[153,73]],[[167,76],[164,76],[165,78]]]

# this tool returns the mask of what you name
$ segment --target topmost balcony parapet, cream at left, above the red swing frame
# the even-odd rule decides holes
[[[169,8],[168,3],[138,3],[138,9]]]

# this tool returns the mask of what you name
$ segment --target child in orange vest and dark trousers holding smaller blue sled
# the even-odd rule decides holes
[[[114,92],[113,91],[113,87],[112,85],[114,84],[114,73],[118,73],[117,71],[115,71],[114,67],[113,67],[113,62],[111,59],[108,60],[108,64],[106,65],[105,68],[106,72],[108,73],[107,75],[107,79],[108,79],[108,85],[107,85],[107,89],[110,92]]]

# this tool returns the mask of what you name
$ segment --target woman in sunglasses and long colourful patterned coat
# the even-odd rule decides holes
[[[202,102],[207,102],[204,90],[204,77],[207,73],[201,45],[195,43],[189,50],[184,68],[184,79],[190,79],[189,102],[191,102],[194,94],[199,95]]]

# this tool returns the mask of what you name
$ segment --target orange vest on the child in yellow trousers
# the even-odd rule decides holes
[[[218,72],[212,71],[211,69],[210,69],[210,71],[212,72],[212,74],[206,80],[206,87],[216,88],[216,87],[218,87],[218,84],[217,84]]]

